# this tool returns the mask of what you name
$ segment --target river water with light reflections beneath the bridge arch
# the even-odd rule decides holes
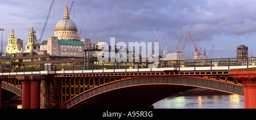
[[[167,97],[153,105],[155,109],[242,109],[243,97],[235,94]]]

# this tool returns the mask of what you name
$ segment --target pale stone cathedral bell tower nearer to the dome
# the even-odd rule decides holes
[[[24,52],[32,52],[32,51],[34,52],[38,51],[38,43],[36,42],[36,35],[33,29],[33,25],[31,26],[30,34],[28,34],[27,36],[27,45]]]

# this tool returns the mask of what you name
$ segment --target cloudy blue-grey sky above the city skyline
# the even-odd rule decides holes
[[[50,4],[51,0],[0,0],[0,28],[5,28],[3,51],[12,26],[16,37],[23,39],[23,46],[31,24],[39,38]],[[55,0],[42,40],[54,34],[64,7],[64,0]],[[82,30],[82,38],[90,38],[92,43],[109,43],[110,37],[116,42],[155,42],[154,26],[169,53],[176,51],[179,41],[184,35],[189,38],[190,32],[202,53],[205,48],[209,55],[214,44],[210,58],[217,58],[236,57],[236,47],[241,44],[249,47],[249,55],[256,56],[255,11],[254,0],[76,0],[70,18],[78,31]],[[162,55],[162,47],[159,49]],[[195,48],[191,40],[184,52],[192,59]]]

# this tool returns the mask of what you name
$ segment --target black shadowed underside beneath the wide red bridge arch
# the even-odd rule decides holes
[[[122,89],[113,89],[82,101],[72,108],[147,108],[163,98],[196,87],[183,85],[138,85]],[[125,96],[124,96],[125,95]]]

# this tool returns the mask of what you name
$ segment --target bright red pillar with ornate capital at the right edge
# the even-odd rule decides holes
[[[233,78],[241,80],[243,83],[243,96],[245,109],[256,109],[256,71],[239,71],[236,69],[229,71]],[[247,69],[245,69],[247,70]]]

